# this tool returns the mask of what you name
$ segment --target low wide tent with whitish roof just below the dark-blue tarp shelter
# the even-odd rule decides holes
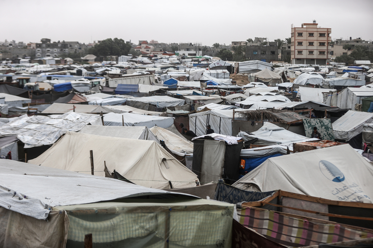
[[[163,109],[167,107],[182,106],[185,104],[185,100],[169,96],[148,96],[127,99],[127,105],[138,109],[149,110],[150,104],[159,109]]]

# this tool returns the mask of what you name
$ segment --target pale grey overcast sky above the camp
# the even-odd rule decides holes
[[[0,0],[0,41],[121,38],[230,44],[290,37],[316,20],[332,39],[373,40],[373,0]]]

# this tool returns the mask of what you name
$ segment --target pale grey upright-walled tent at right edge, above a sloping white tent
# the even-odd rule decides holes
[[[355,109],[356,104],[362,104],[362,99],[372,97],[373,88],[347,87],[339,92],[337,107],[341,109]]]

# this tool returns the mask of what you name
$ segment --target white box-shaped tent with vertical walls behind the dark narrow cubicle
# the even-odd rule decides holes
[[[207,125],[215,133],[223,135],[232,135],[232,120],[234,110],[209,110],[194,114],[189,114],[189,129],[197,136],[206,134]],[[235,120],[245,120],[239,114],[235,113]]]

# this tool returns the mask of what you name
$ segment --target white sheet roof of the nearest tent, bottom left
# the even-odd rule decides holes
[[[8,159],[4,159],[0,166],[0,193],[1,207],[8,209],[11,206],[12,211],[42,220],[48,217],[51,207],[56,206],[86,204],[139,195],[173,194],[117,179]]]

